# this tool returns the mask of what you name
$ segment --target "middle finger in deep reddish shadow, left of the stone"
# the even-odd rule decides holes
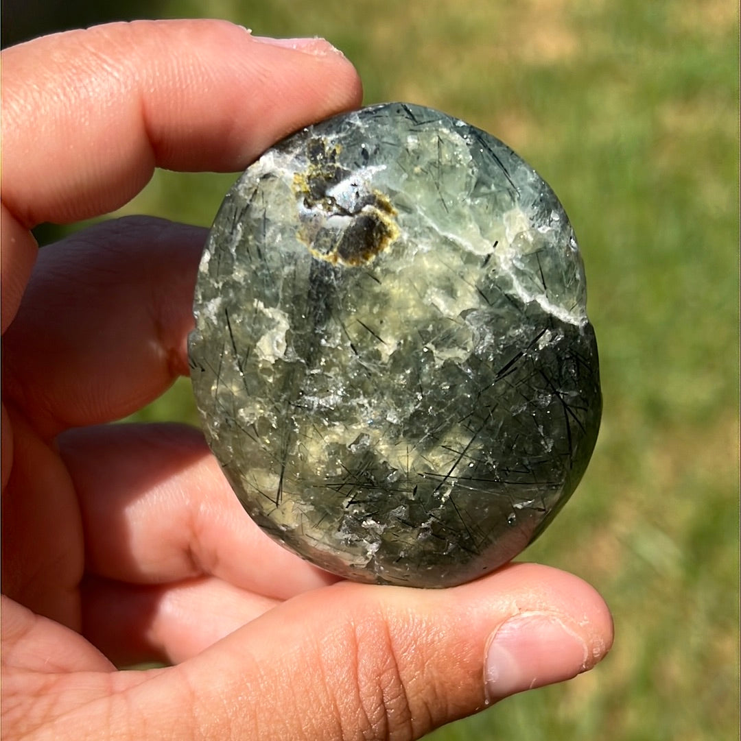
[[[205,230],[130,217],[39,253],[3,337],[4,394],[42,435],[108,422],[187,375]]]

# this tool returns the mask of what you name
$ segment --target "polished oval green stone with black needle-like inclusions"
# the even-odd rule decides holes
[[[190,353],[248,513],[329,571],[444,587],[516,556],[602,401],[582,259],[507,146],[392,103],[303,129],[227,194]]]

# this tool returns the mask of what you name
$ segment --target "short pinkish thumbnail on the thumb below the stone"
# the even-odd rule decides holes
[[[584,640],[554,614],[523,613],[503,622],[487,647],[487,702],[576,677],[593,661]]]

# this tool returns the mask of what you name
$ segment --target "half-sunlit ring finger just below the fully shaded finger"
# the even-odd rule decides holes
[[[216,576],[277,599],[336,581],[257,528],[191,428],[70,431],[59,451],[79,497],[86,568],[96,576],[133,584]]]

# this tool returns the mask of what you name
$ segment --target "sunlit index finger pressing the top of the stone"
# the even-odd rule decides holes
[[[225,21],[136,21],[5,50],[4,204],[26,227],[127,202],[154,167],[239,170],[286,133],[353,107],[329,44],[263,43]]]

